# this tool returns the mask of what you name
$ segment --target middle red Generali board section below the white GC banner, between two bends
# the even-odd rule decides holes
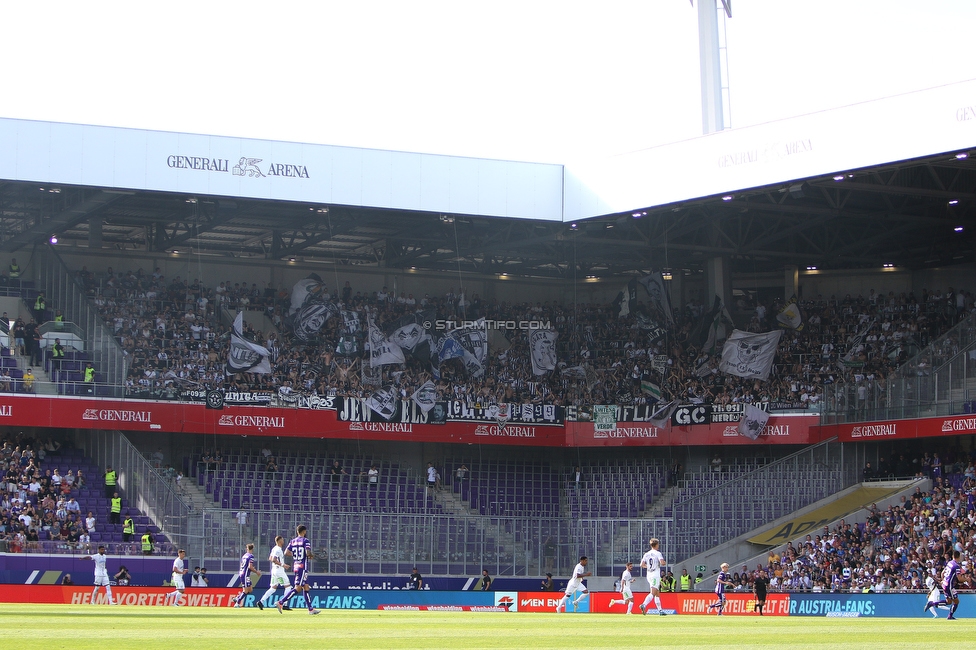
[[[669,425],[659,429],[649,422],[618,422],[613,431],[594,431],[592,422],[567,422],[566,443],[571,447],[628,447],[676,445],[809,445],[822,440],[817,415],[774,415],[752,440],[739,434],[738,424]]]

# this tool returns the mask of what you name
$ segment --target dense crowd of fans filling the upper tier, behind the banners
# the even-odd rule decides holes
[[[559,334],[559,363],[554,371],[533,374],[528,332],[508,330],[504,340],[492,337],[484,375],[477,379],[457,359],[436,370],[429,359],[410,356],[404,364],[384,366],[382,383],[396,385],[403,398],[439,373],[439,399],[486,404],[643,404],[655,399],[641,390],[641,380],[647,379],[660,386],[665,399],[771,401],[802,408],[818,403],[825,386],[838,382],[878,392],[892,369],[974,309],[970,292],[952,288],[919,296],[881,296],[874,290],[867,297],[817,296],[801,303],[803,329],[785,331],[771,377],[762,382],[717,370],[721,346],[705,350],[704,334],[714,322],[727,333],[733,324],[722,322],[721,314],[716,319],[696,301],[676,307],[674,324],[662,328],[664,315],[643,303],[619,317],[619,307],[611,304],[512,303],[482,300],[477,294],[467,298],[454,290],[443,296],[396,296],[386,287],[354,292],[347,281],[341,290],[326,289],[321,298],[336,301],[356,318],[332,317],[314,342],[304,342],[290,336],[282,318],[290,303],[285,288],[230,281],[207,287],[197,279],[167,280],[159,269],[152,274],[109,269],[99,278],[83,269],[79,277],[131,357],[128,392],[168,398],[180,390],[215,388],[368,396],[377,380],[368,376],[368,358],[363,357],[368,354],[367,316],[382,329],[421,312],[425,320],[549,322]],[[225,375],[229,328],[221,323],[224,307],[231,314],[264,310],[275,324],[278,331],[269,332],[245,324],[245,334],[271,352],[272,373]],[[733,307],[736,327],[762,332],[777,328],[782,303],[743,298]]]

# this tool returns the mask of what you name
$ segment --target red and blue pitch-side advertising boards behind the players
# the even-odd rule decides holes
[[[167,587],[116,587],[113,595],[121,606],[162,606]],[[5,585],[0,591],[3,603],[44,603],[59,605],[88,604],[92,587],[54,586],[54,585]],[[231,599],[238,593],[236,589],[188,588],[183,597],[187,607],[231,607]],[[249,595],[243,607],[256,608],[257,599],[263,590],[256,589]],[[389,589],[313,589],[312,606],[322,610],[406,610],[406,611],[493,611],[493,612],[553,612],[562,597],[561,592],[551,591],[405,591]],[[270,604],[283,595],[281,591],[271,597]],[[645,593],[634,592],[635,614],[637,605],[644,600]],[[614,592],[591,592],[574,612],[569,608],[567,615],[573,614],[623,614],[622,605],[610,606],[611,599],[619,599]],[[667,614],[714,615],[708,605],[714,602],[711,593],[665,593],[661,594],[661,605]],[[104,590],[99,590],[96,604],[105,604]],[[766,601],[766,616],[819,616],[819,617],[886,617],[886,618],[929,618],[922,608],[926,602],[925,594],[815,594],[815,593],[774,593]],[[290,606],[295,610],[304,609],[304,600],[294,597]],[[653,611],[653,610],[652,610]],[[976,594],[962,594],[959,610],[960,618],[976,614]],[[757,616],[755,596],[752,594],[728,594],[726,616]],[[945,613],[941,612],[944,618]]]

